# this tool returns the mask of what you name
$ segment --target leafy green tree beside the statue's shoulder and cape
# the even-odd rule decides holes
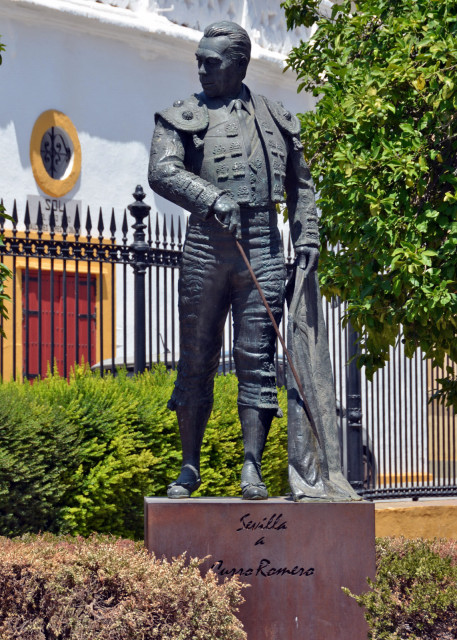
[[[281,6],[289,28],[317,28],[288,64],[317,98],[300,118],[323,292],[347,300],[369,376],[400,331],[408,356],[456,362],[457,0],[343,0],[328,16],[319,4]]]

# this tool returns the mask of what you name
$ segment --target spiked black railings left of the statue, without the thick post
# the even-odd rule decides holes
[[[176,317],[177,268],[181,258],[181,219],[148,218],[141,251],[132,238],[127,211],[121,222],[111,212],[85,215],[76,207],[70,219],[41,203],[35,215],[25,207],[13,223],[0,219],[5,237],[0,256],[12,271],[7,286],[8,319],[1,319],[0,376],[43,377],[49,370],[68,376],[75,363],[116,371],[134,367],[134,271],[146,276],[145,340],[148,363],[175,366],[178,359]],[[94,222],[96,232],[93,232]],[[135,225],[133,225],[135,226]],[[137,229],[134,229],[137,232]],[[133,269],[132,269],[133,267]]]

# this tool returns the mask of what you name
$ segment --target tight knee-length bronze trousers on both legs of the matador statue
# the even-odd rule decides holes
[[[286,270],[274,208],[241,211],[241,244],[276,322],[282,317]],[[214,218],[190,219],[179,279],[180,360],[168,403],[212,404],[230,305],[238,404],[278,410],[276,334],[234,237]]]

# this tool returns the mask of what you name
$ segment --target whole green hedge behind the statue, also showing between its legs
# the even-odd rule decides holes
[[[0,385],[0,535],[50,531],[143,535],[143,496],[165,495],[180,466],[176,414],[166,408],[175,373],[129,378],[87,367],[69,382],[50,375]],[[237,380],[220,376],[202,449],[198,494],[239,495],[243,459]],[[287,400],[264,458],[271,495],[287,492]]]

